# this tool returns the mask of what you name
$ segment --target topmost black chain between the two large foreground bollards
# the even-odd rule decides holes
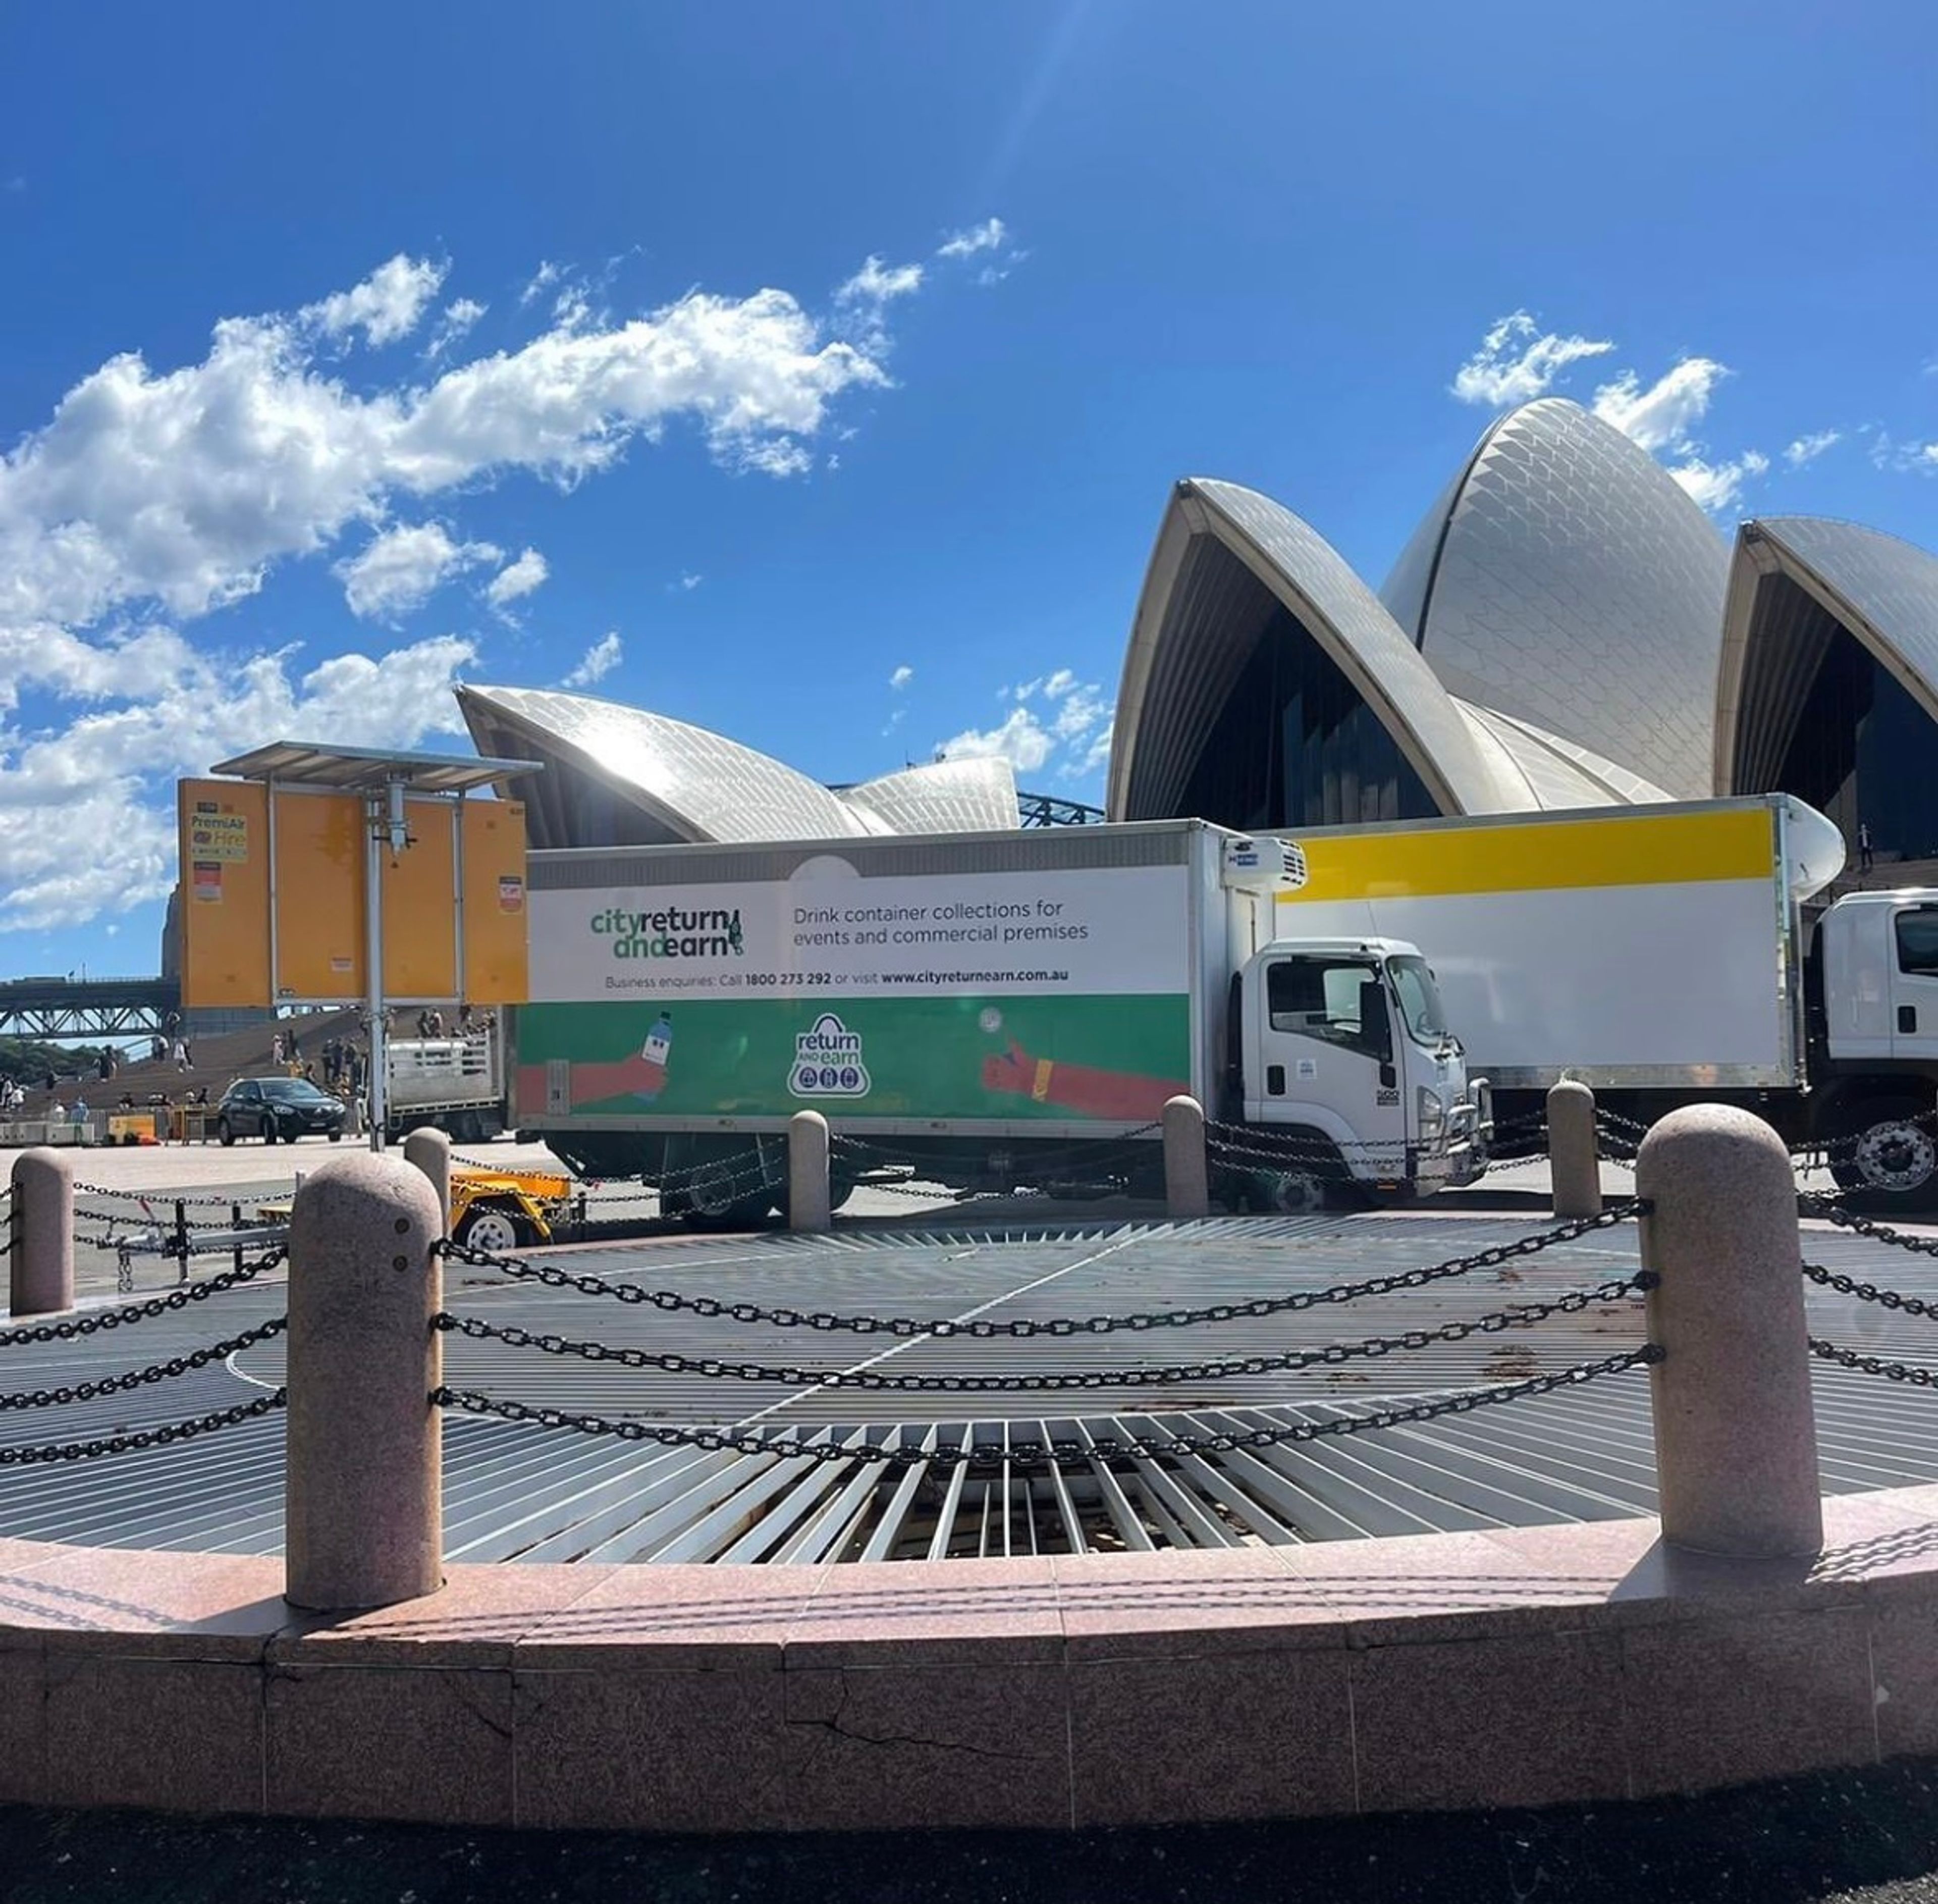
[[[922,1320],[919,1317],[843,1317],[828,1311],[766,1309],[760,1303],[723,1303],[711,1295],[682,1295],[676,1289],[641,1289],[638,1284],[610,1284],[599,1276],[574,1276],[570,1270],[550,1262],[527,1262],[519,1256],[494,1256],[488,1251],[469,1249],[463,1243],[440,1243],[446,1256],[469,1262],[481,1270],[498,1270],[521,1282],[539,1282],[548,1289],[576,1289],[579,1295],[609,1295],[618,1303],[647,1303],[653,1309],[686,1311],[698,1317],[727,1317],[733,1322],[771,1322],[775,1328],[818,1328],[822,1332],[847,1332],[855,1336],[967,1336],[988,1342],[994,1338],[1031,1336],[1109,1336],[1116,1330],[1145,1328],[1190,1328],[1198,1322],[1236,1322],[1250,1317],[1293,1315],[1300,1309],[1318,1309],[1322,1303],[1355,1303],[1368,1295],[1391,1295],[1395,1289],[1424,1289],[1428,1284],[1444,1282],[1450,1276],[1465,1276],[1469,1270],[1496,1270],[1521,1256],[1539,1256],[1556,1243],[1574,1243],[1597,1229],[1612,1229],[1632,1216],[1647,1212],[1640,1198],[1603,1210],[1601,1216],[1583,1216],[1554,1229],[1519,1237],[1514,1243],[1496,1243],[1475,1251],[1471,1256],[1454,1256],[1422,1270],[1401,1270],[1393,1276],[1374,1276],[1359,1284],[1335,1284],[1329,1289],[1302,1289],[1293,1295],[1262,1295],[1250,1303],[1207,1303],[1202,1309],[1169,1309],[1128,1317],[1060,1317],[1052,1322],[1037,1322],[1029,1317],[1016,1317],[1008,1322],[992,1322],[977,1317],[967,1322],[953,1322],[946,1317]]]

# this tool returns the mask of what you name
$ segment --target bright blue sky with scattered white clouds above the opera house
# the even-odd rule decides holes
[[[0,977],[455,681],[1099,803],[1176,479],[1378,586],[1545,392],[1938,547],[1934,182],[1928,0],[10,8]]]

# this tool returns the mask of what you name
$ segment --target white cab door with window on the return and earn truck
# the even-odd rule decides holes
[[[1370,952],[1287,952],[1266,958],[1258,1063],[1246,1066],[1246,1115],[1310,1125],[1366,1175],[1405,1171],[1405,1039],[1393,1037],[1386,981]],[[1374,999],[1380,1000],[1374,1004]]]

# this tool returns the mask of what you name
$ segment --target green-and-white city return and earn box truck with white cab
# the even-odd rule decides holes
[[[1163,1183],[1190,1092],[1252,1127],[1229,1198],[1430,1190],[1479,1156],[1432,977],[1376,933],[1273,942],[1297,855],[1198,820],[533,853],[514,1117],[669,1210],[785,1202],[787,1121],[955,1189]]]

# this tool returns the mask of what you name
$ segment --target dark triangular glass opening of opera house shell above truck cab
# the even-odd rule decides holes
[[[1176,810],[1266,830],[1430,820],[1440,809],[1345,675],[1275,605]]]

